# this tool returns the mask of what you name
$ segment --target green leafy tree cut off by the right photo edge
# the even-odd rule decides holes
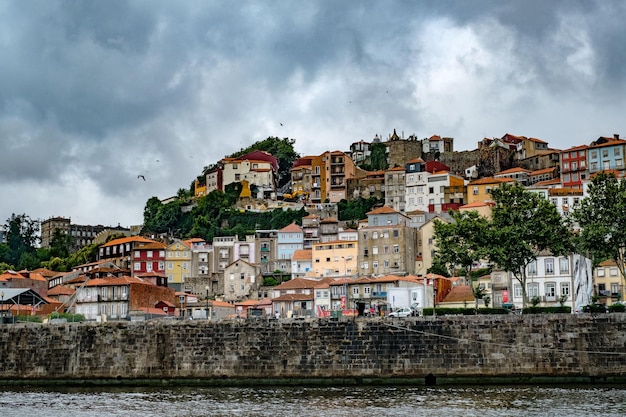
[[[626,181],[613,173],[600,172],[589,183],[587,198],[572,213],[580,232],[576,243],[594,266],[612,259],[625,272]]]

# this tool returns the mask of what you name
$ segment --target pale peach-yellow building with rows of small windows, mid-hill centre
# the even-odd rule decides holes
[[[358,241],[335,240],[312,246],[315,277],[343,277],[357,273]]]

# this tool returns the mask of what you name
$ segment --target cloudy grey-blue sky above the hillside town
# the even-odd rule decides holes
[[[2,1],[0,223],[141,224],[270,136],[303,156],[394,129],[455,150],[624,137],[625,18],[621,0]]]

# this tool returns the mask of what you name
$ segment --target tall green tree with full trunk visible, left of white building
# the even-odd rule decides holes
[[[542,251],[565,255],[572,250],[572,234],[556,207],[521,185],[502,184],[491,190],[495,206],[488,230],[488,258],[513,274],[522,287],[526,307],[526,268]]]

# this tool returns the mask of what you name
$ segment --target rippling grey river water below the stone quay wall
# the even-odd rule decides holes
[[[2,388],[0,415],[623,416],[626,387]]]

